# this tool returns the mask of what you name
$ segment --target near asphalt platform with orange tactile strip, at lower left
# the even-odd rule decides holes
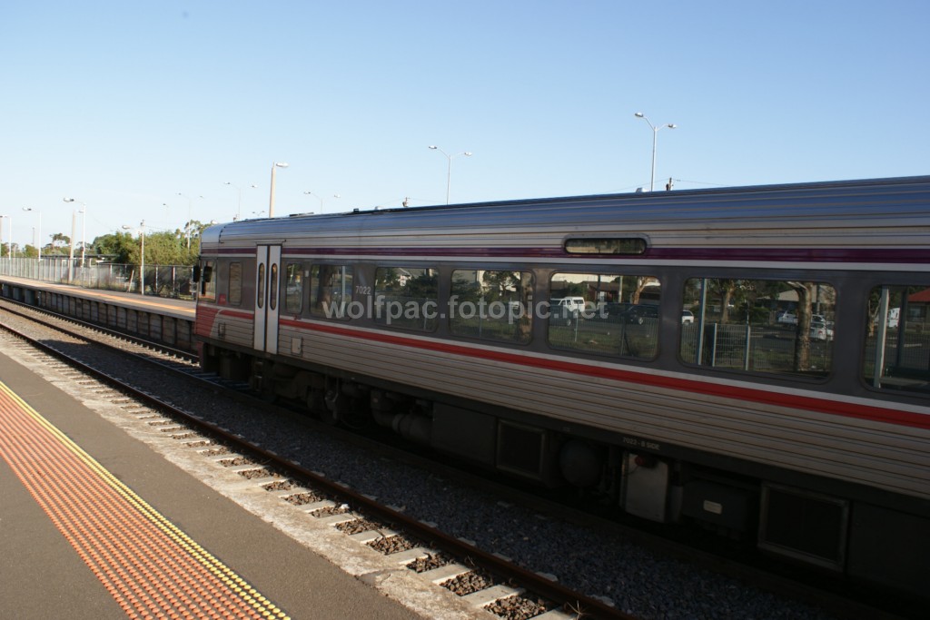
[[[2,351],[0,616],[419,617]]]

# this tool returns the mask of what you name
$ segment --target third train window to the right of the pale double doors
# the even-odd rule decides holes
[[[375,270],[375,323],[424,332],[435,330],[438,273],[421,267]]]

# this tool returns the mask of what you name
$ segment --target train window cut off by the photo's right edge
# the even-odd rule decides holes
[[[924,334],[928,303],[927,286],[872,289],[862,367],[870,386],[930,392],[930,332]]]

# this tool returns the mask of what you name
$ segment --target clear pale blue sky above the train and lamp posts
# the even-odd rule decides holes
[[[453,203],[648,189],[633,112],[678,125],[657,190],[927,174],[928,27],[925,0],[5,2],[3,240],[70,236],[65,196],[88,243],[228,221],[226,181],[250,217],[274,162],[277,216],[443,204],[431,144],[473,152]]]

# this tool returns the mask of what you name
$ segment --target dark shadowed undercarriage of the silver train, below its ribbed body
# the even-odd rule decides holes
[[[437,453],[622,514],[705,532],[764,554],[926,597],[930,515],[844,493],[843,486],[688,454],[481,402],[298,367],[206,344],[205,370],[248,381],[268,400],[302,402],[329,424],[390,431]],[[766,475],[767,474],[767,475]],[[890,557],[887,549],[904,549]]]

